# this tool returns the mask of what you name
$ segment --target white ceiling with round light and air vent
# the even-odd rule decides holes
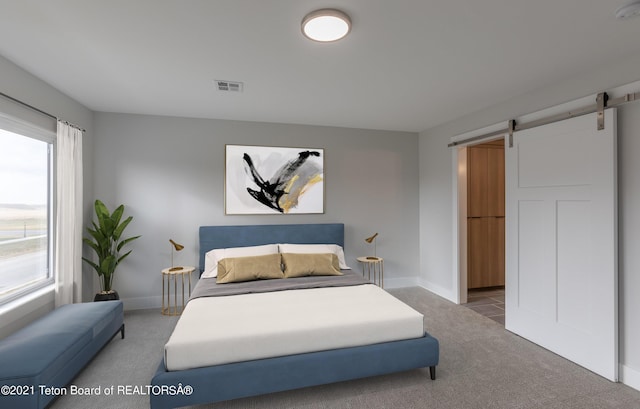
[[[640,55],[627,2],[0,0],[0,55],[95,111],[419,132]]]

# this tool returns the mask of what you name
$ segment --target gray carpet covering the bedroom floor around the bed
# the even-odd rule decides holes
[[[390,292],[422,312],[428,331],[439,339],[435,381],[420,369],[195,408],[640,408],[640,392],[594,375],[489,318],[421,288]],[[103,391],[111,385],[116,392],[118,386],[147,385],[176,319],[145,310],[127,312],[125,322],[126,338],[113,339],[72,382],[100,387],[101,393],[62,396],[52,408],[149,407],[148,396],[126,391],[107,396]]]

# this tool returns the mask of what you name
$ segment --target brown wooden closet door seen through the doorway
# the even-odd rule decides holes
[[[467,148],[467,286],[504,286],[504,141]]]

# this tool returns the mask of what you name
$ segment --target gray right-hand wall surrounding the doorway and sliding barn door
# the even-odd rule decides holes
[[[455,299],[452,186],[454,163],[450,138],[518,118],[587,95],[638,81],[640,56],[608,64],[476,112],[420,134],[420,277],[426,288]],[[635,91],[640,89],[640,83]],[[595,100],[594,100],[595,101]],[[640,102],[618,113],[618,217],[620,364],[625,383],[640,389]]]

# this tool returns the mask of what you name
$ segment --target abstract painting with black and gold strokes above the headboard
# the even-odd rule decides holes
[[[226,214],[324,213],[324,149],[226,145]]]

